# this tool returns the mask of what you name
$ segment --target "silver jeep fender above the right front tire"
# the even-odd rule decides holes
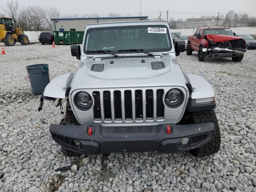
[[[212,86],[204,78],[192,74],[186,74],[186,76],[188,77],[192,86],[190,98],[201,99],[215,96]]]

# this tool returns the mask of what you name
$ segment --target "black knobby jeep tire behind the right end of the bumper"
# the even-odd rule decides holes
[[[220,128],[214,110],[192,112],[191,118],[193,123],[214,123],[215,132],[212,140],[199,148],[190,150],[190,153],[195,157],[204,157],[217,153],[220,149]]]

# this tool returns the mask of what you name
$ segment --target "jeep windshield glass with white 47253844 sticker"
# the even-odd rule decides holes
[[[90,28],[86,31],[84,53],[102,54],[106,50],[141,49],[145,52],[164,52],[172,49],[169,30],[165,25],[114,26]],[[95,52],[94,52],[95,51]],[[122,53],[126,53],[122,52]]]

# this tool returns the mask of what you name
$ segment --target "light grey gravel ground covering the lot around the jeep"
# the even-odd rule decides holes
[[[0,45],[2,45],[0,43]],[[46,63],[50,79],[75,71],[70,46],[5,47],[0,55],[0,191],[256,192],[256,50],[240,63],[198,62],[196,53],[177,57],[186,73],[203,76],[216,93],[222,144],[218,154],[155,152],[66,157],[51,139],[59,108],[31,93],[25,66]],[[56,102],[55,102],[56,105]],[[63,166],[72,166],[63,172]]]

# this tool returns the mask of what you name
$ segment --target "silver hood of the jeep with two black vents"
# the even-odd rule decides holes
[[[154,69],[152,63],[156,63],[156,66],[153,66]],[[164,67],[161,67],[159,63],[163,63]],[[94,64],[101,66],[104,64],[103,70],[101,68],[101,72],[94,71]],[[176,60],[166,56],[83,61],[74,75],[71,88],[75,90],[172,85],[186,87],[186,79]]]

